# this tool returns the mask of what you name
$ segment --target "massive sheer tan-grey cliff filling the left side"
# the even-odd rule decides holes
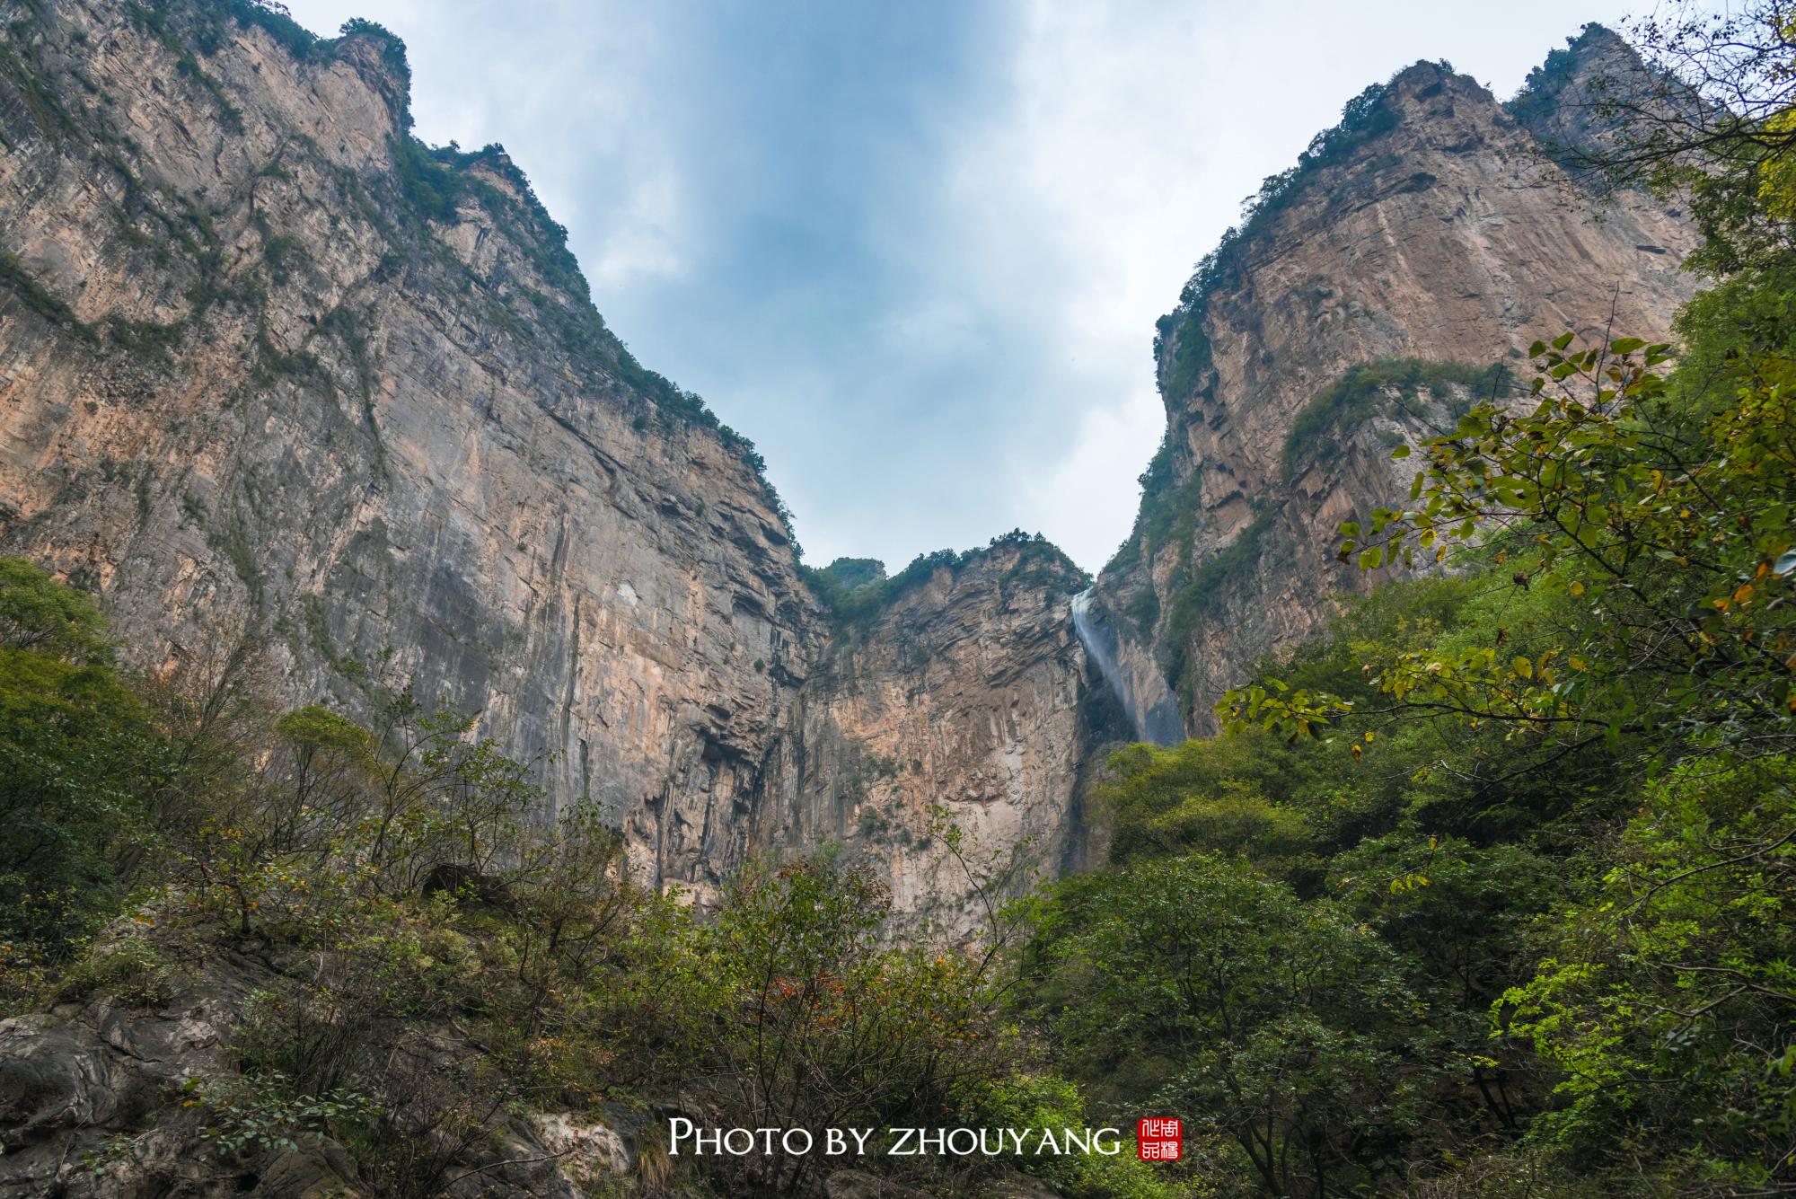
[[[927,732],[891,752],[979,811],[1015,741],[988,705],[1065,752],[1076,705],[1038,677],[1061,668],[991,650],[1078,661],[1043,591],[990,608],[982,655],[867,650],[891,675],[853,686],[902,707],[927,677],[934,725],[806,684],[832,628],[774,501],[603,327],[505,154],[408,154],[386,38],[304,50],[223,9],[9,9],[0,551],[99,591],[151,666],[253,632],[295,702],[413,678],[557,802],[600,799],[654,881],[833,829],[794,813],[841,793],[835,738]],[[909,853],[882,851],[903,878]]]

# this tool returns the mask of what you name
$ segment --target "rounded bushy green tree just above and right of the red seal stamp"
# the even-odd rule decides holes
[[[1394,1154],[1442,1068],[1403,958],[1241,858],[1076,880],[1042,944],[1081,1068],[1182,1113],[1211,1168],[1239,1149],[1270,1194],[1325,1194]]]

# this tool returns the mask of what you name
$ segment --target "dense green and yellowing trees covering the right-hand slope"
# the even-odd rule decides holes
[[[1223,736],[1117,754],[1110,865],[1038,924],[1065,1068],[1182,1111],[1219,1190],[1796,1192],[1796,171],[1774,136],[1668,162],[1719,271],[1676,359],[1564,334],[1395,447],[1408,501],[1340,555],[1422,576],[1261,664]]]

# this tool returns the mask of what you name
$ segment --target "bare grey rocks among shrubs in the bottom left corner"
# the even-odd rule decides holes
[[[122,944],[131,942],[113,941]],[[388,1194],[316,1113],[257,1107],[242,1090],[235,1043],[284,969],[311,975],[318,962],[214,946],[153,980],[113,980],[108,989],[124,998],[0,1021],[0,1195]],[[429,1179],[431,1194],[584,1199],[634,1174],[647,1113],[607,1107],[607,1124],[492,1102],[476,1113],[478,1134],[451,1134],[465,1116],[478,1050],[453,1021],[393,1036],[384,1070],[370,1066],[361,1086],[417,1138],[411,1177]]]

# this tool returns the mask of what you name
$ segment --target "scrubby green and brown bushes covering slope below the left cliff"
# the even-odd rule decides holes
[[[652,1104],[605,1194],[792,1194],[844,1165],[675,1160],[665,1113],[880,1129],[860,1165],[938,1194],[1017,1167],[1069,1195],[1175,1194],[1131,1156],[878,1156],[893,1125],[1087,1124],[1004,1011],[1008,924],[893,944],[891,897],[833,851],[751,863],[700,915],[630,881],[591,804],[548,817],[467,718],[381,664],[356,677],[366,720],[269,705],[250,644],[131,675],[84,594],[0,558],[0,1011],[190,1003],[216,964],[259,964],[233,1066],[144,1113],[176,1152],[253,1174],[330,1145],[361,1194],[436,1195],[521,1113]],[[981,860],[945,813],[930,835]],[[239,976],[205,1002],[239,1002]]]

